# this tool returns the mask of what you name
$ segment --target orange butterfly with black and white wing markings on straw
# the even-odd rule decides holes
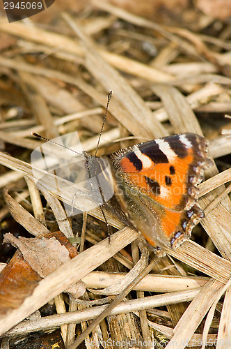
[[[207,140],[194,133],[171,135],[111,154],[111,179],[102,170],[103,158],[85,154],[86,168],[89,177],[101,172],[108,188],[113,186],[113,195],[104,200],[108,190],[98,181],[102,209],[140,232],[161,254],[189,239],[204,217],[197,186],[212,163],[207,146]]]

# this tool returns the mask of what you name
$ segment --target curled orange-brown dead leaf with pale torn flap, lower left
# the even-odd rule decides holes
[[[10,242],[19,251],[0,274],[0,316],[17,309],[43,277],[77,255],[76,249],[62,232],[32,239],[17,239],[8,233],[4,242]],[[85,292],[85,285],[79,281],[67,292],[72,297],[80,297]]]

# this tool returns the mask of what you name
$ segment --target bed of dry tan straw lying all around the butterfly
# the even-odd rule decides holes
[[[44,15],[42,22],[40,14],[37,24],[33,18],[7,24],[1,17],[0,184],[6,201],[0,211],[1,230],[38,236],[58,228],[68,238],[86,234],[80,246],[83,253],[46,276],[21,306],[0,319],[1,348],[8,348],[8,336],[10,348],[17,348],[20,336],[29,340],[30,332],[56,327],[61,328],[65,346],[76,348],[73,322],[81,323],[78,331],[85,329],[86,321],[102,312],[103,301],[88,292],[84,302],[76,302],[61,292],[82,279],[88,288],[106,288],[102,294],[109,301],[148,263],[141,242],[139,256],[136,232],[107,215],[120,230],[110,245],[107,239],[99,243],[106,236],[105,224],[93,218],[104,221],[99,209],[83,215],[82,229],[82,218],[66,219],[54,188],[53,194],[43,190],[41,201],[32,180],[29,156],[41,143],[31,132],[55,138],[78,131],[83,149],[94,151],[109,89],[113,98],[98,155],[172,133],[195,132],[209,140],[218,169],[214,164],[207,170],[207,181],[200,184],[206,215],[194,230],[193,241],[157,260],[152,274],[134,287],[136,292],[114,308],[120,315],[107,316],[94,327],[85,346],[111,338],[133,339],[134,347],[142,348],[143,338],[157,348],[201,348],[206,339],[214,348],[224,348],[223,343],[230,348],[231,205],[230,186],[225,189],[224,184],[231,180],[231,123],[224,116],[231,111],[231,27],[224,15],[217,19],[216,12],[213,17],[183,2],[182,13],[166,6],[164,17],[157,20],[104,1],[91,1],[72,15],[58,13],[56,4],[53,15]],[[129,139],[130,135],[134,137]],[[72,203],[70,193],[65,201]],[[81,197],[78,205],[88,209]],[[122,249],[128,244],[131,248]],[[8,255],[3,257],[7,260]],[[123,279],[128,270],[134,274]],[[62,315],[33,315],[17,325],[53,298]],[[85,310],[70,313],[77,309]],[[31,343],[24,343],[24,348],[33,348]],[[63,348],[62,341],[58,345]]]

